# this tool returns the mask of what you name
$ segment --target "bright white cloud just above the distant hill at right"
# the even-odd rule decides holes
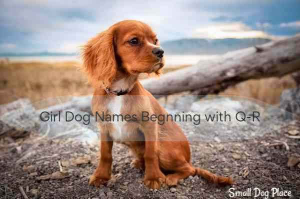
[[[271,38],[272,36],[260,30],[252,30],[242,22],[216,23],[195,29],[193,37],[197,38]]]

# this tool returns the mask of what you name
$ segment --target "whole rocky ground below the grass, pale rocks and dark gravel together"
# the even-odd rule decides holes
[[[255,188],[260,190],[256,198],[271,198],[271,190],[278,189],[274,198],[299,199],[300,90],[287,90],[281,98],[280,106],[228,97],[160,99],[169,113],[202,115],[199,124],[178,122],[190,141],[192,163],[235,181],[232,186],[217,187],[196,176],[160,190],[143,185],[143,171],[130,167],[128,149],[118,144],[113,147],[112,179],[101,188],[88,186],[97,163],[95,122],[43,122],[39,115],[42,111],[62,115],[67,110],[89,115],[90,96],[58,99],[58,104],[19,99],[0,105],[0,199],[224,199],[234,192],[234,198],[253,198]],[[223,111],[231,121],[203,119],[203,114]],[[237,121],[239,111],[250,120]],[[259,112],[259,122],[252,120],[253,111]],[[248,189],[251,193],[241,196]],[[284,191],[291,196],[283,197]]]

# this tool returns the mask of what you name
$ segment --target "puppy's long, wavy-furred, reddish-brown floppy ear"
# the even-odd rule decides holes
[[[83,69],[94,87],[110,86],[115,78],[117,63],[114,55],[114,29],[89,39],[82,48]]]

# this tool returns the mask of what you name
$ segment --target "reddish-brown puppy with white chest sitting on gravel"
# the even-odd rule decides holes
[[[189,143],[175,122],[141,120],[141,111],[167,113],[138,81],[140,73],[160,74],[163,53],[151,27],[136,20],[115,23],[84,44],[82,65],[94,88],[93,114],[136,116],[127,122],[98,123],[100,157],[90,185],[99,187],[110,179],[113,142],[128,146],[135,157],[131,165],[144,170],[143,182],[150,189],[176,186],[178,180],[195,175],[215,184],[233,183],[230,177],[192,167]]]

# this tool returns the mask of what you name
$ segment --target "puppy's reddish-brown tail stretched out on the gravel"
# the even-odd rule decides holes
[[[222,186],[233,184],[233,180],[231,177],[217,176],[201,168],[194,168],[194,169],[196,170],[197,176],[203,177],[210,183],[214,183]]]

